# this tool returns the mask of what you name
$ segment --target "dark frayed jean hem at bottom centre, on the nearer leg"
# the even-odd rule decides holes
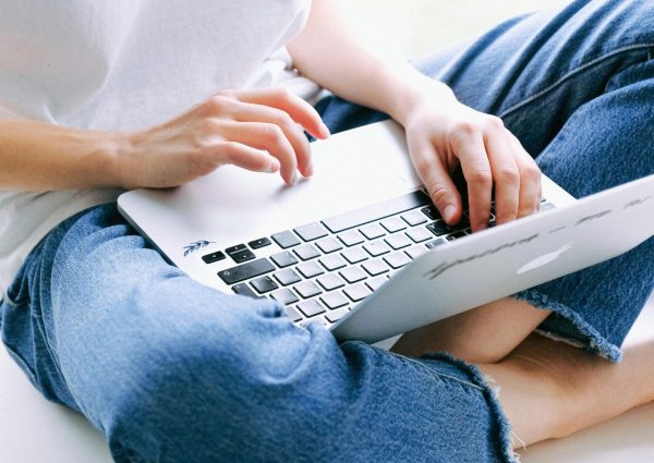
[[[475,365],[460,361],[447,352],[427,354],[417,360],[417,362],[431,367],[439,379],[448,382],[458,382],[464,388],[472,388],[481,393],[488,409],[488,427],[492,440],[488,443],[489,447],[494,448],[494,451],[491,453],[495,453],[495,456],[491,461],[505,463],[520,462],[519,454],[513,452],[511,425],[499,404],[499,389],[495,389],[489,385],[492,379],[487,379]]]

